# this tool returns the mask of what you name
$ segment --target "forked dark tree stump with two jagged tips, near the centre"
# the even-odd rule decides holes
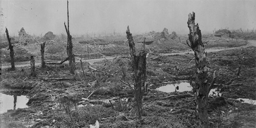
[[[142,116],[142,96],[144,94],[144,85],[146,82],[146,52],[145,50],[141,50],[139,54],[136,54],[135,45],[133,41],[132,33],[130,33],[129,26],[126,30],[126,37],[129,41],[130,54],[132,57],[132,68],[134,71],[134,79],[135,79],[135,101],[136,107],[138,111],[139,119]],[[143,88],[143,89],[142,89]]]

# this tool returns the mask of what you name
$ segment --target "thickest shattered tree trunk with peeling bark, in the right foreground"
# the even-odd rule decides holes
[[[196,58],[196,121],[197,127],[208,127],[208,60],[206,58],[206,52],[204,51],[204,45],[202,42],[201,30],[199,25],[195,25],[195,13],[188,14],[189,28],[188,38],[190,45],[187,45],[194,51]]]

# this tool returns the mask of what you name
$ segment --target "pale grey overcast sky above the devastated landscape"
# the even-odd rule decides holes
[[[9,33],[24,27],[29,34],[66,34],[67,1],[6,1],[1,22]],[[71,34],[124,33],[189,33],[188,14],[196,13],[202,33],[228,27],[256,29],[256,1],[69,1]],[[11,34],[12,35],[12,34]]]

